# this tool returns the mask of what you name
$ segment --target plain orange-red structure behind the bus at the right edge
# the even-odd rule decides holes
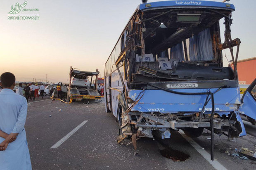
[[[256,57],[237,61],[237,73],[239,84],[251,84],[256,78]]]

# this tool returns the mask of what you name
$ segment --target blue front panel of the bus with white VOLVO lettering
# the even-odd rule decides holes
[[[210,91],[216,92],[216,90],[218,89],[211,89]],[[174,91],[194,93],[206,92],[206,89],[180,89]],[[128,95],[135,100],[141,92],[142,90],[130,90]],[[163,90],[145,90],[144,95],[139,103],[133,107],[132,111],[156,111],[160,113],[201,112],[205,101],[206,95],[181,95]],[[240,104],[239,87],[219,90],[214,94],[214,103],[216,112],[234,111],[237,109],[237,105]],[[204,110],[211,112],[211,108],[211,102],[209,102]]]

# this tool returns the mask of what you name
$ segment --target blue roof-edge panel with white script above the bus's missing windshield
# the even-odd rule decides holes
[[[168,0],[160,2],[151,2],[140,4],[138,9],[146,11],[147,9],[155,8],[202,8],[207,7],[211,9],[228,9],[230,11],[235,11],[235,6],[223,2],[214,1],[204,1],[204,0]]]

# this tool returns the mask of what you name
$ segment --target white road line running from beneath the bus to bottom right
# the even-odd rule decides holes
[[[197,152],[199,152],[199,154],[201,154],[204,157],[204,159],[206,159],[206,161],[208,161],[213,166],[213,168],[215,168],[216,170],[227,170],[218,161],[211,161],[211,155],[204,149],[202,149],[202,147],[200,147],[200,145],[198,145],[197,142],[195,142],[192,138],[186,136],[182,130],[179,130],[178,132],[181,134],[183,138],[185,138],[185,140],[187,140],[187,142],[190,143],[192,147],[194,147],[194,149],[197,150]]]

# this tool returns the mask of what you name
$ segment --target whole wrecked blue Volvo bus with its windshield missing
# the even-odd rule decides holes
[[[164,139],[182,129],[198,137],[205,128],[213,160],[213,133],[246,134],[238,112],[240,40],[231,38],[232,11],[232,4],[201,0],[137,7],[105,63],[105,108],[119,120],[118,143],[131,137],[136,149],[136,138],[153,138],[153,132]],[[233,68],[223,66],[224,49]]]

